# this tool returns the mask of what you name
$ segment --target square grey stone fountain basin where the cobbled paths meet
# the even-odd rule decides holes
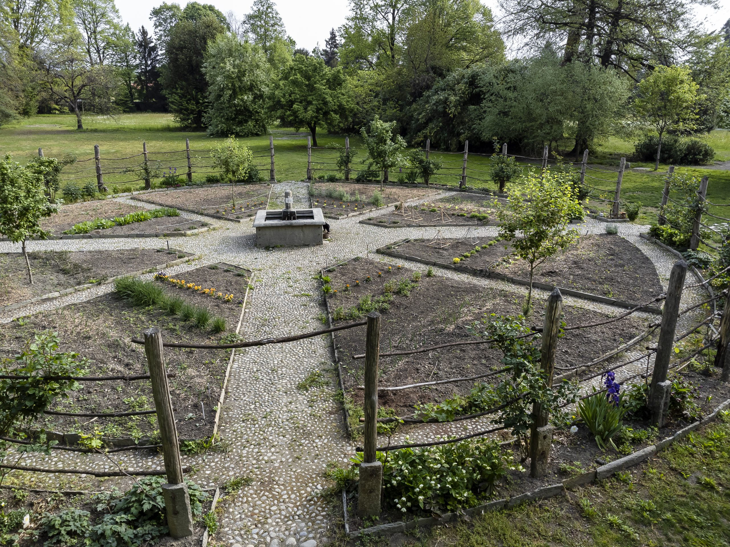
[[[296,220],[283,218],[296,214]],[[321,245],[324,220],[322,209],[269,209],[258,211],[253,220],[256,247],[300,247]]]

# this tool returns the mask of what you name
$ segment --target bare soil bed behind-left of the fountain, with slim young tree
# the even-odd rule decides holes
[[[266,209],[268,197],[269,185],[241,184],[169,190],[135,195],[133,199],[207,217],[241,221],[255,216],[259,209]]]

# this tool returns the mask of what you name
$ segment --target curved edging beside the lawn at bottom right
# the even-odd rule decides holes
[[[703,425],[709,424],[718,416],[718,414],[721,413],[721,411],[725,410],[729,406],[730,399],[718,405],[711,414],[705,416],[703,419],[689,424],[687,427],[684,427],[683,429],[677,431],[674,435],[670,435],[669,437],[662,439],[655,445],[650,445],[647,446],[645,449],[637,450],[634,453],[629,454],[628,456],[616,459],[613,462],[609,462],[606,465],[602,465],[599,468],[587,471],[586,473],[582,473],[578,476],[566,478],[564,481],[561,481],[558,484],[543,486],[542,488],[533,490],[532,492],[523,492],[523,494],[518,494],[514,497],[503,498],[502,500],[494,500],[483,505],[477,505],[477,507],[466,509],[461,513],[445,513],[440,518],[429,516],[420,519],[412,519],[410,521],[397,521],[389,522],[387,524],[378,524],[377,526],[350,531],[350,527],[347,524],[347,497],[345,495],[345,491],[343,490],[342,514],[345,519],[345,535],[347,535],[348,538],[357,538],[360,535],[389,535],[395,534],[397,532],[404,532],[406,530],[414,529],[416,527],[420,528],[440,526],[441,524],[455,521],[460,516],[480,515],[488,513],[489,511],[494,511],[496,509],[514,507],[515,505],[523,502],[545,500],[548,497],[557,496],[558,494],[562,494],[569,488],[573,488],[575,486],[583,486],[584,484],[590,484],[593,481],[600,481],[609,478],[618,471],[632,468],[634,467],[634,465],[638,465],[645,459],[648,459],[653,454],[656,454],[658,451],[666,449],[666,447],[670,446],[672,443],[682,440],[690,432],[698,429],[699,427],[702,427]]]

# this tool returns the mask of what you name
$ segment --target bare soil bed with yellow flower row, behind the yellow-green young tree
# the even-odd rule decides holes
[[[500,241],[473,252],[470,257],[464,257],[465,252],[472,251],[477,245],[482,247],[492,239],[442,239],[433,243],[431,240],[417,239],[406,241],[393,249],[386,247],[383,252],[450,264],[456,269],[474,269],[483,275],[495,271],[510,277],[529,279],[527,263],[523,260],[512,261],[511,249],[505,249]],[[442,244],[449,245],[440,247]],[[454,258],[460,259],[458,264],[453,263]],[[566,252],[539,265],[534,280],[637,304],[648,302],[662,292],[659,276],[649,257],[630,241],[610,234],[580,236],[577,244]]]

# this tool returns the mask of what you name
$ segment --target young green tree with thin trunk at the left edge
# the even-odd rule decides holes
[[[40,220],[56,211],[55,203],[48,201],[44,190],[42,176],[12,161],[10,155],[0,161],[0,234],[23,245],[31,284],[33,271],[26,241],[34,237],[47,238],[49,234],[41,228]]]

